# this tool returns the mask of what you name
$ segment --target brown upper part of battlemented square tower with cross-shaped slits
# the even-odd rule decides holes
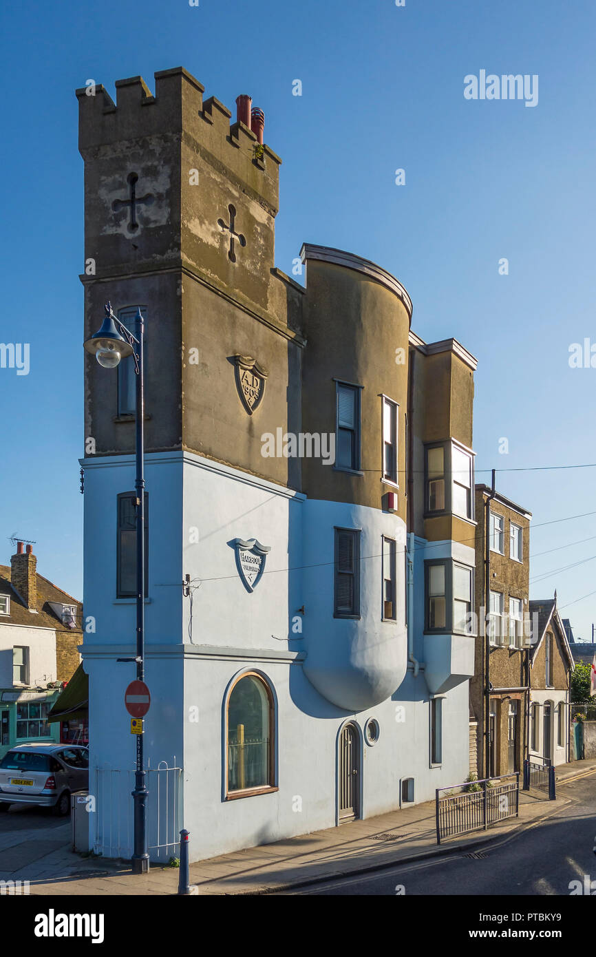
[[[299,430],[302,290],[274,269],[281,161],[247,122],[231,123],[223,103],[203,100],[204,87],[182,68],[155,75],[155,96],[141,77],[116,88],[116,105],[102,86],[95,96],[77,90],[85,260],[95,269],[81,276],[85,334],[106,299],[146,310],[148,452],[189,449],[296,486],[297,463],[263,459],[259,441],[276,426]],[[270,415],[264,407],[247,429],[230,383],[234,356],[255,352]],[[91,358],[85,391],[85,437],[96,454],[130,452],[134,428],[118,411],[118,377],[106,382]]]

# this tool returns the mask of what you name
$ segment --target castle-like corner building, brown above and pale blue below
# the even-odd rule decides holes
[[[248,98],[231,122],[183,69],[155,96],[116,86],[77,91],[81,280],[85,339],[105,300],[145,323],[147,761],[182,768],[192,859],[429,800],[468,773],[475,359],[415,335],[401,282],[360,256],[304,244],[305,286],[276,268],[280,160]],[[110,854],[101,782],[134,760],[134,368],[85,361],[90,826]],[[111,805],[130,820],[130,788]]]

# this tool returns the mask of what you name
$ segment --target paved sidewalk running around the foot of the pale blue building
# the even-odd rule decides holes
[[[558,786],[596,774],[596,759],[575,761],[556,770]],[[500,839],[538,823],[569,803],[564,793],[555,801],[535,791],[519,792],[519,817],[492,825],[437,847],[434,802],[381,814],[307,835],[210,857],[190,865],[190,883],[199,895],[262,895],[320,880],[371,873],[396,863],[422,860],[451,851],[474,852],[476,845]],[[31,809],[27,809],[31,813]],[[70,821],[56,823],[35,815],[28,828],[25,813],[9,812],[0,834],[0,880],[29,880],[29,893],[47,896],[175,895],[177,868],[153,865],[135,876],[126,861],[81,857],[70,850]],[[192,835],[190,835],[192,841]]]

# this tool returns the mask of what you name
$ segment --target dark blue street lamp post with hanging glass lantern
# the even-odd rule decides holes
[[[137,680],[144,679],[144,389],[143,389],[143,315],[136,316],[138,338],[121,323],[112,312],[110,302],[105,303],[105,317],[98,332],[83,345],[95,355],[99,365],[116,368],[121,359],[132,356],[136,375],[135,454],[136,454],[136,513],[137,513]],[[135,735],[137,741],[137,767],[135,770],[134,801],[134,853],[133,874],[146,874],[149,870],[146,829],[146,775],[143,768],[143,734]]]

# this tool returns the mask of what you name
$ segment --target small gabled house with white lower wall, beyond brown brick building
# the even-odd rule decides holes
[[[529,755],[546,765],[571,760],[569,704],[575,665],[563,621],[554,598],[530,602],[538,622],[537,641],[530,652]]]

